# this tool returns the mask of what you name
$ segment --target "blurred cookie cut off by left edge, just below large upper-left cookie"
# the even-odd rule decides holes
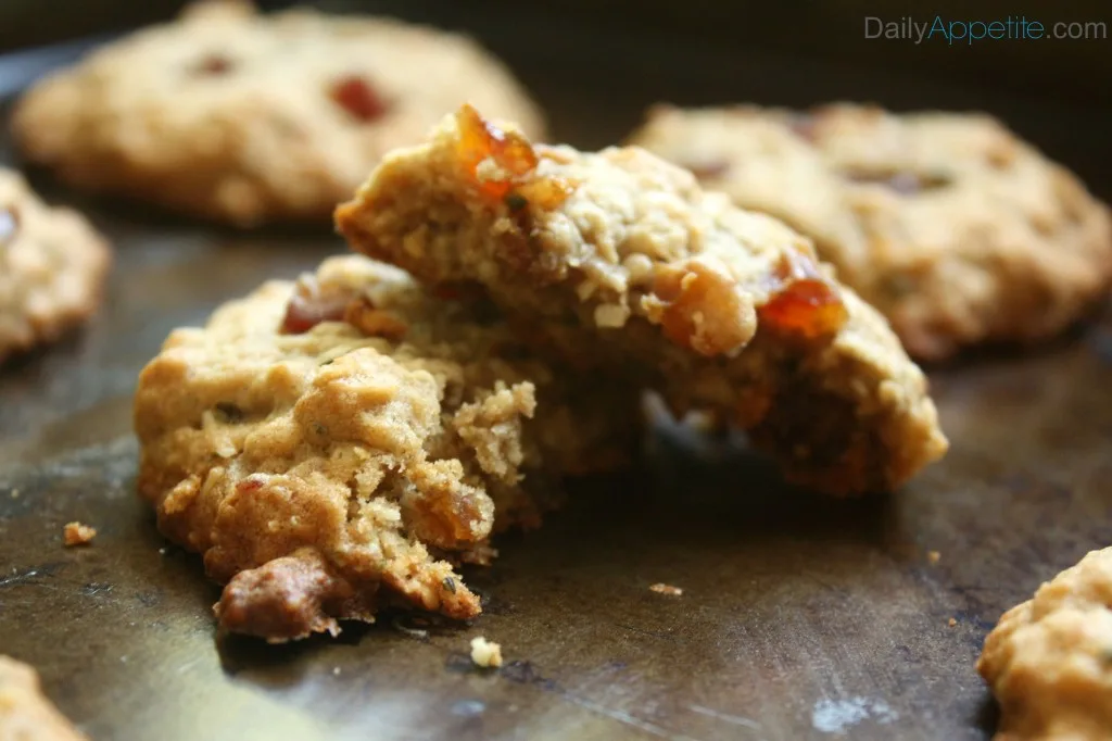
[[[58,338],[100,303],[111,255],[77,213],[0,168],[0,362]]]

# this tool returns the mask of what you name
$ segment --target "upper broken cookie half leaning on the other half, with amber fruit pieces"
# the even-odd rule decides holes
[[[887,490],[946,449],[922,372],[806,238],[642,149],[534,147],[464,107],[336,221],[540,352],[739,424],[797,483]]]

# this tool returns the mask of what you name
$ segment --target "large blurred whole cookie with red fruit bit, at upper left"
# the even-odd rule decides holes
[[[39,82],[13,132],[28,159],[76,187],[244,227],[326,224],[384,152],[466,100],[543,130],[470,39],[210,0]]]

